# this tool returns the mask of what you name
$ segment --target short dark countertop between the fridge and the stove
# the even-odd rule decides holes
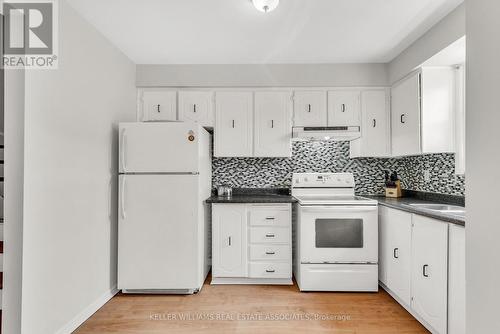
[[[219,197],[213,194],[207,203],[296,203],[295,197],[286,188],[235,188],[233,196]]]

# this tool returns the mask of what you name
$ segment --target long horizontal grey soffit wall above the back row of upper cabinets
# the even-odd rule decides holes
[[[139,87],[388,85],[386,64],[137,65]]]

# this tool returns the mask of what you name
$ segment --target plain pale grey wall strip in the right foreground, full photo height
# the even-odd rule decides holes
[[[500,317],[500,2],[466,0],[467,333],[498,333]]]

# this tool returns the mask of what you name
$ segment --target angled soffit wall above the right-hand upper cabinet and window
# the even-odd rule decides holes
[[[389,81],[394,83],[403,78],[464,35],[465,4],[462,4],[389,63]]]

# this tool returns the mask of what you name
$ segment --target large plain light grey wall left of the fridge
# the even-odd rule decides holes
[[[136,109],[135,65],[66,1],[59,8],[59,69],[25,77],[22,332],[30,334],[70,332],[116,292],[117,123]]]

